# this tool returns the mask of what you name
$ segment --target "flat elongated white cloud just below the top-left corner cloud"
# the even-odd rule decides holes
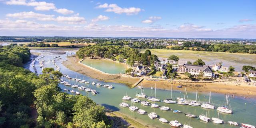
[[[40,14],[40,13],[35,13],[35,12],[18,12],[14,14],[6,14],[7,17],[12,17],[12,18],[53,18],[54,15],[46,15],[46,14]]]

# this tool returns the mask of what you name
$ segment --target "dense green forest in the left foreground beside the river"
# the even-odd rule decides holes
[[[61,72],[45,68],[36,76],[22,68],[29,57],[28,48],[0,48],[0,128],[111,127],[104,107],[61,92]]]

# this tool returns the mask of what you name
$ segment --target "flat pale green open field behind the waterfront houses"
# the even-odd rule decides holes
[[[144,53],[146,49],[140,49]],[[159,57],[169,57],[174,54],[180,60],[194,62],[201,58],[206,64],[216,64],[222,62],[223,66],[233,66],[236,71],[242,71],[243,65],[256,66],[256,54],[242,54],[229,52],[205,52],[205,51],[190,51],[190,50],[167,50],[167,49],[149,49],[152,54]]]

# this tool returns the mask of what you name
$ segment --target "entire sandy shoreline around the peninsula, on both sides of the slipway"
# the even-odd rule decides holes
[[[84,64],[79,64],[80,59],[77,57],[69,57],[68,61],[63,62],[64,66],[69,68],[70,70],[74,70],[86,76],[90,76],[92,78],[96,78],[98,80],[103,80],[106,82],[116,82],[123,83],[129,86],[136,83],[139,78],[130,78],[120,76],[119,74],[103,74],[101,71],[94,70],[89,68]],[[150,88],[154,84],[157,85],[157,88],[160,89],[170,89],[171,85],[174,90],[184,90],[184,88],[177,88],[178,85],[183,85],[187,88],[188,91],[196,91],[198,92],[214,92],[221,94],[234,94],[236,96],[250,96],[256,97],[256,86],[247,85],[244,82],[232,82],[232,81],[221,81],[221,82],[212,82],[212,83],[204,83],[204,82],[182,82],[175,80],[176,82],[168,82],[168,81],[152,81],[152,80],[143,80],[141,84],[145,88]]]

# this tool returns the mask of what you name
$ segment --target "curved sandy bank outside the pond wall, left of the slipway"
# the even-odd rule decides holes
[[[80,63],[80,59],[77,56],[70,56],[68,57],[68,61],[64,61],[63,65],[66,66],[68,69],[73,70],[75,72],[79,72],[80,74],[84,74],[91,78],[95,78],[98,80],[102,80],[105,82],[116,82],[116,83],[123,83],[126,85],[131,86],[135,82],[139,80],[139,78],[128,78],[123,77],[120,74],[106,74],[98,71],[94,68],[86,66]]]

